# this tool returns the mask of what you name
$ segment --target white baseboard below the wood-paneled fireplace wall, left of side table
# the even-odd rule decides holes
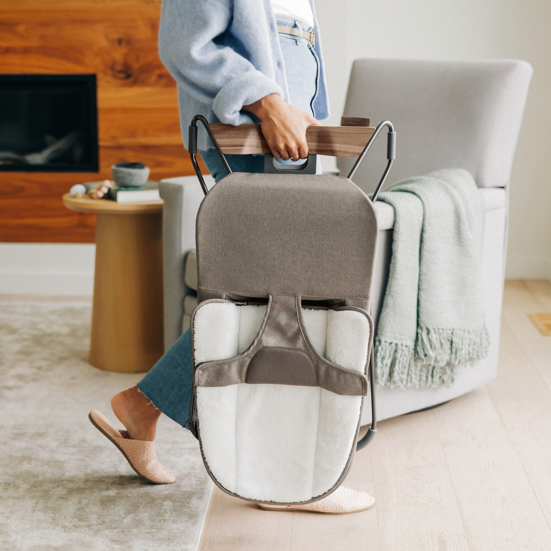
[[[91,296],[94,244],[0,243],[0,295]]]

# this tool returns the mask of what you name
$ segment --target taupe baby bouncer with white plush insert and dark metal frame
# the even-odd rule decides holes
[[[210,191],[196,161],[197,122],[228,172]],[[350,179],[385,126],[388,162],[370,199]],[[300,166],[266,155],[265,173],[247,174],[231,171],[204,117],[191,122],[189,151],[205,197],[189,426],[214,483],[238,498],[325,498],[375,436],[374,203],[396,133],[389,121],[371,131],[346,178],[316,175],[315,155]],[[358,440],[368,391],[372,423]]]

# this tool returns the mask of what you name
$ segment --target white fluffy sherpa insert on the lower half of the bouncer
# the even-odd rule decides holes
[[[196,365],[245,352],[265,314],[266,306],[200,306],[194,323]],[[302,309],[302,316],[320,355],[364,372],[370,331],[365,315]],[[210,472],[230,492],[258,501],[297,503],[331,489],[354,446],[360,408],[360,396],[339,396],[320,387],[197,387],[197,418]]]

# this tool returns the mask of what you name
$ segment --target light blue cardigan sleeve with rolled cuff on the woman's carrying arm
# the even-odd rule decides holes
[[[284,94],[244,56],[215,41],[230,25],[231,5],[225,0],[163,0],[159,55],[187,94],[211,107],[220,121],[237,125],[244,105]]]

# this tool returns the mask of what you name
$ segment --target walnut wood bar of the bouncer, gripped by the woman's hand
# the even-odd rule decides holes
[[[223,125],[212,123],[210,129],[226,155],[271,153],[260,125]],[[375,132],[371,126],[309,126],[306,141],[310,155],[357,157]]]

